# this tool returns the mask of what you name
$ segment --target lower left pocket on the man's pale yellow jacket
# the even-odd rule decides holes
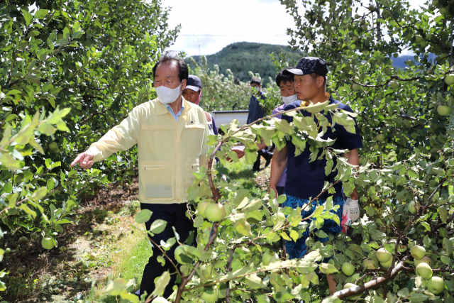
[[[147,199],[172,199],[172,167],[167,162],[145,162],[140,165],[140,182]]]

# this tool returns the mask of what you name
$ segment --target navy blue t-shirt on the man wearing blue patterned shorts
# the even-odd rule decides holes
[[[330,96],[329,98],[330,104],[338,103],[338,109],[343,109],[344,111],[353,112],[350,107],[346,106],[345,104],[333,99]],[[285,106],[284,111],[288,111],[290,109],[295,109],[299,107],[301,101],[295,101],[287,106]],[[304,109],[300,111],[303,116],[311,116],[309,111],[305,111]],[[326,118],[328,119],[329,123],[332,123],[331,114],[326,114]],[[282,115],[282,119],[287,120],[287,122],[293,121],[292,116]],[[314,117],[314,121],[317,123],[318,120]],[[331,145],[331,148],[334,149],[345,149],[345,150],[354,150],[355,148],[362,148],[362,141],[360,136],[360,130],[358,128],[358,123],[355,120],[355,132],[356,133],[349,133],[345,130],[343,126],[336,123],[334,126],[334,131],[331,126],[328,126],[326,133],[323,135],[323,139],[336,139],[336,142]],[[292,195],[294,197],[298,197],[300,199],[309,199],[312,197],[314,199],[317,197],[321,190],[323,189],[323,185],[325,181],[330,183],[334,183],[334,178],[337,175],[337,171],[331,172],[328,176],[325,175],[325,167],[326,167],[326,159],[323,157],[321,160],[315,160],[313,162],[309,162],[309,157],[311,155],[311,150],[309,148],[311,145],[308,143],[306,144],[306,148],[300,154],[295,156],[295,145],[292,141],[287,141],[287,180],[285,181],[284,192],[285,194]],[[321,155],[322,149],[319,149],[319,155]],[[333,157],[333,170],[336,167],[336,158]],[[334,197],[339,197],[343,195],[342,192],[342,182],[334,185],[333,187],[336,189],[336,194]],[[323,192],[319,199],[324,200],[327,199],[329,196],[328,191]]]

